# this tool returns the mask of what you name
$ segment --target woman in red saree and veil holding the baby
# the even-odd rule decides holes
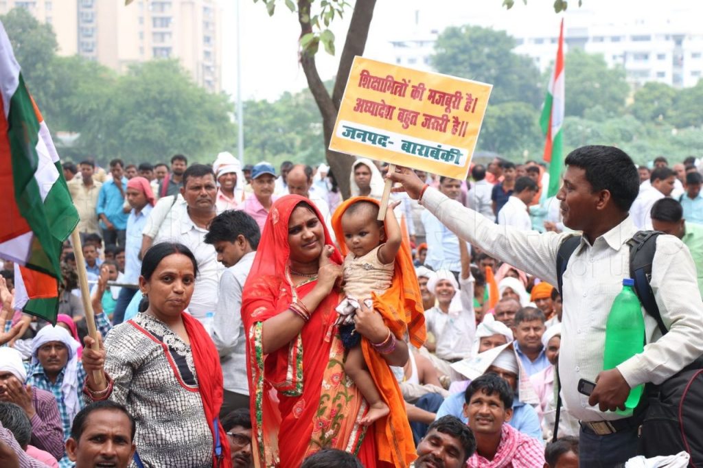
[[[391,467],[378,462],[373,427],[359,423],[366,402],[344,374],[335,327],[342,256],[321,219],[304,197],[276,200],[244,288],[254,464],[298,468],[307,455],[338,448],[367,467]],[[372,343],[388,336],[374,311],[359,313],[356,327]],[[408,347],[399,340],[384,357],[404,365]]]

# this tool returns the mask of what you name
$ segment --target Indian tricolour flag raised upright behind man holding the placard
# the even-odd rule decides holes
[[[539,124],[546,134],[544,160],[549,163],[549,189],[547,196],[553,197],[559,191],[562,167],[564,166],[564,20],[559,31],[559,47],[554,72],[549,82],[547,97]]]

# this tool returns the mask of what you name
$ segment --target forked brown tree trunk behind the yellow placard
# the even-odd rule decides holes
[[[304,34],[312,32],[310,25],[310,4],[314,0],[299,0],[298,1],[298,22],[300,23],[300,37]],[[325,84],[317,72],[314,54],[301,51],[300,65],[302,66],[305,78],[308,82],[308,87],[312,96],[315,98],[317,107],[322,116],[323,135],[325,138],[325,155],[327,162],[330,165],[330,171],[335,174],[337,184],[342,191],[342,197],[347,198],[351,195],[349,189],[349,173],[352,171],[352,164],[355,158],[351,155],[345,155],[341,152],[330,151],[330,140],[335,128],[335,120],[337,112],[340,108],[344,86],[347,84],[349,70],[352,68],[354,56],[363,55],[363,49],[366,46],[368,38],[368,28],[370,27],[371,19],[373,18],[373,8],[376,0],[357,0],[352,13],[352,21],[349,24],[347,31],[347,39],[344,42],[342,56],[340,58],[340,66],[337,69],[337,77],[335,79],[335,87],[333,94],[330,97]]]

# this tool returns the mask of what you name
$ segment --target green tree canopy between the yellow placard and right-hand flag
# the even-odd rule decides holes
[[[539,70],[514,48],[515,39],[504,31],[448,27],[437,37],[430,63],[440,73],[493,84],[491,105],[519,101],[537,108],[544,100]]]

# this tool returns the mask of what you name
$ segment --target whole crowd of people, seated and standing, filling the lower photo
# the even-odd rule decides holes
[[[82,245],[56,325],[15,310],[11,262],[0,277],[0,466],[624,464],[630,389],[703,354],[696,164],[586,146],[549,197],[538,162],[460,181],[359,158],[342,200],[325,164],[66,162]],[[668,332],[645,316],[645,351],[604,369],[643,229],[669,234],[649,279]]]

